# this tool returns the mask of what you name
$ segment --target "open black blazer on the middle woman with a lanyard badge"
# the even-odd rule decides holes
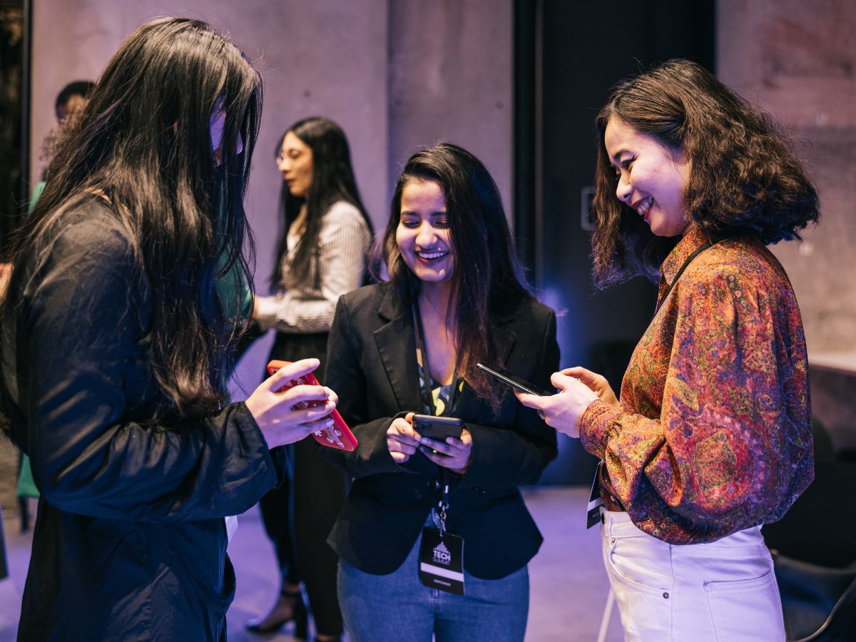
[[[550,388],[559,367],[556,314],[537,301],[521,304],[497,327],[502,354],[494,363]],[[440,467],[416,453],[400,466],[386,431],[405,412],[422,412],[413,314],[389,283],[345,294],[330,330],[326,384],[360,445],[353,453],[324,449],[354,478],[328,541],[356,568],[389,574],[401,566],[440,498]],[[497,384],[499,385],[499,384]],[[522,568],[543,538],[526,509],[520,484],[534,484],[556,457],[556,431],[510,391],[499,413],[467,383],[455,404],[473,435],[473,463],[450,474],[447,527],[464,538],[464,567],[494,580]]]

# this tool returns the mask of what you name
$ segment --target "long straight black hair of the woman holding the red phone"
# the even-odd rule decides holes
[[[261,78],[205,22],[163,18],[125,40],[88,98],[15,236],[13,264],[49,252],[74,205],[93,194],[109,202],[151,291],[148,363],[170,401],[161,413],[202,416],[223,401],[235,338],[235,319],[224,311],[241,309],[241,294],[235,291],[229,306],[216,279],[237,270],[250,282],[243,199]],[[216,106],[225,114],[219,165],[210,130]],[[252,241],[248,246],[252,257]]]

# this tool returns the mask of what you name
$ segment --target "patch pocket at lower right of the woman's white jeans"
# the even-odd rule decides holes
[[[780,642],[785,639],[776,575],[706,582],[710,617],[718,642]]]

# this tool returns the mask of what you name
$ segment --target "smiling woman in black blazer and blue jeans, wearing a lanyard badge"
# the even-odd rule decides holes
[[[360,441],[325,449],[354,479],[328,540],[346,628],[354,642],[523,639],[542,538],[517,487],[556,437],[475,365],[549,388],[556,315],[522,284],[496,185],[460,147],[407,162],[382,256],[389,282],[342,296],[328,348],[327,384]],[[465,427],[431,440],[413,413]]]

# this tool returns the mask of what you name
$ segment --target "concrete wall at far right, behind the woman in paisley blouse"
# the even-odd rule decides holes
[[[720,79],[797,139],[823,217],[773,248],[794,282],[809,352],[856,350],[856,6],[719,0]]]

